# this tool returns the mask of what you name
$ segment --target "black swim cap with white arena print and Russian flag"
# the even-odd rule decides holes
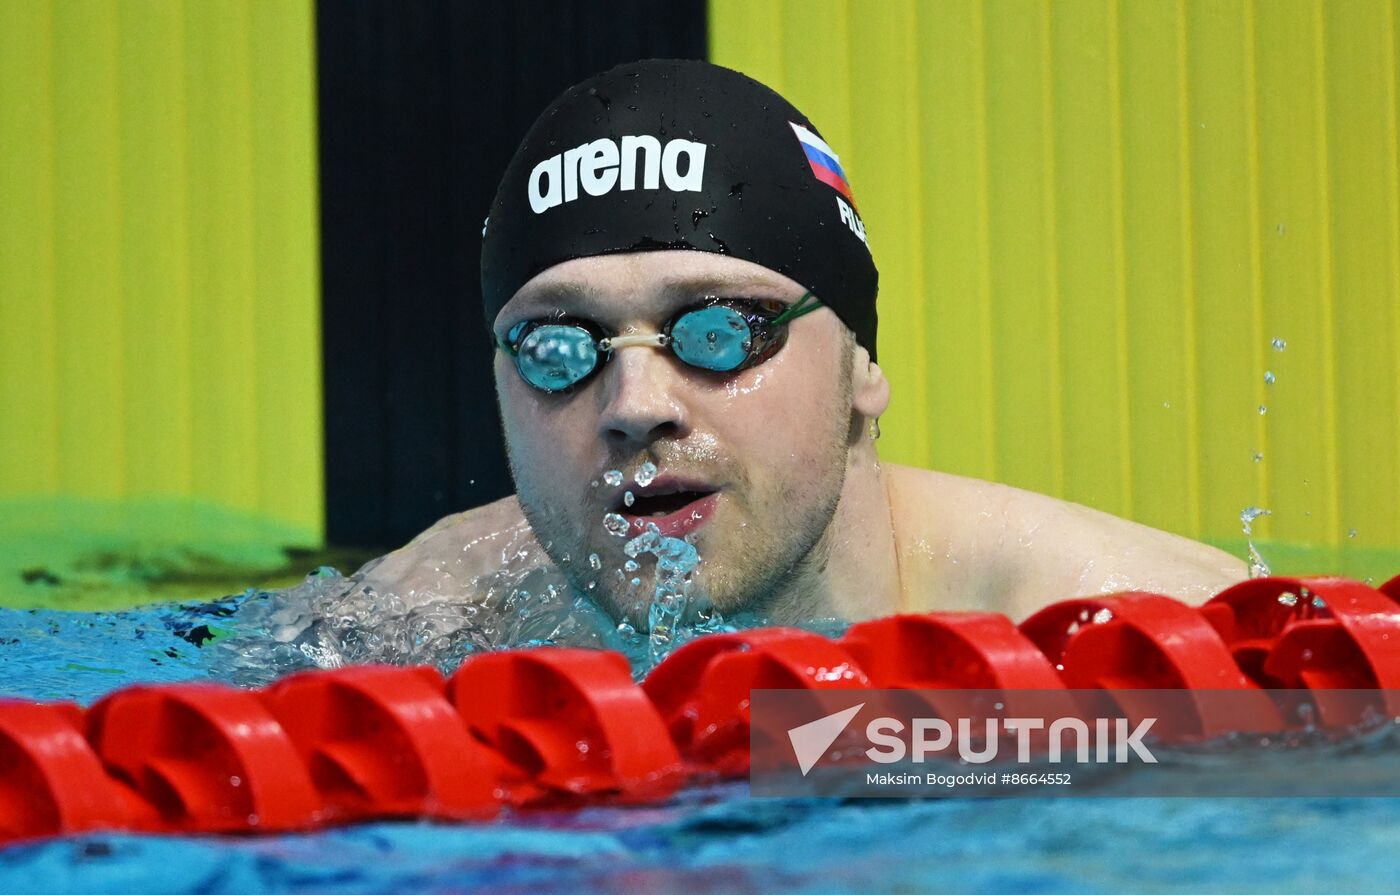
[[[836,153],[753,78],[650,59],[564,91],[515,151],[483,230],[486,322],[573,258],[696,249],[812,290],[875,357],[878,273]]]

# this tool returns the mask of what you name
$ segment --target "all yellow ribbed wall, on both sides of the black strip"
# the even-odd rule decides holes
[[[0,0],[0,501],[321,532],[312,41],[311,0]],[[1396,1],[711,0],[711,46],[843,155],[888,457],[1400,546]]]

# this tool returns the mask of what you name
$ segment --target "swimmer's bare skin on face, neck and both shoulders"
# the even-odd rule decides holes
[[[707,252],[585,258],[526,283],[496,332],[561,311],[610,332],[651,333],[704,294],[792,303],[802,291]],[[631,346],[560,395],[526,385],[497,352],[496,384],[517,494],[447,517],[384,557],[367,577],[379,591],[410,602],[475,599],[503,567],[545,567],[615,618],[640,620],[651,569],[638,573],[640,587],[619,574],[624,539],[603,528],[609,511],[626,514],[633,531],[655,518],[689,535],[703,557],[694,587],[721,611],[776,622],[934,609],[1021,618],[1121,590],[1196,602],[1246,577],[1242,560],[1127,520],[882,464],[868,423],[888,406],[890,385],[826,308],[794,321],[777,354],[736,374]],[[633,476],[645,461],[658,476],[643,489]],[[609,469],[626,483],[609,486]]]

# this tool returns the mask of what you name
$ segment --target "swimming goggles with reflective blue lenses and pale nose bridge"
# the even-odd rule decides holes
[[[682,308],[651,335],[612,335],[589,319],[546,317],[522,321],[496,346],[515,359],[521,378],[542,392],[561,392],[602,370],[630,346],[671,349],[680,363],[714,373],[762,364],[787,342],[787,325],[822,307],[811,291],[784,305],[770,298],[708,296]]]

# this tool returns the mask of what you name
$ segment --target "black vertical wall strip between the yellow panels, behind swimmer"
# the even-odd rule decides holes
[[[332,543],[395,546],[511,493],[477,283],[496,183],[566,87],[706,39],[693,0],[318,3]]]

